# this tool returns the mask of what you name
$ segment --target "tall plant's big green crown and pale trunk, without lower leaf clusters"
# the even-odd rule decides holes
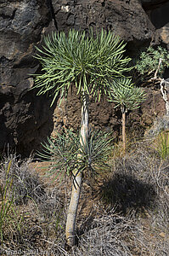
[[[87,36],[85,32],[70,30],[67,36],[65,32],[52,33],[44,38],[42,49],[37,49],[39,54],[36,57],[42,64],[42,74],[35,75],[34,87],[39,90],[38,95],[51,92],[52,104],[57,96],[66,97],[71,86],[75,86],[77,95],[81,95],[82,122],[80,150],[77,154],[79,163],[84,161],[83,148],[88,148],[89,96],[99,101],[102,94],[110,90],[110,84],[129,70],[127,64],[130,58],[123,56],[125,45],[112,32],[102,30],[94,37],[92,31]],[[76,166],[73,168],[72,165],[74,178],[65,230],[70,247],[75,244],[76,212],[83,169]]]

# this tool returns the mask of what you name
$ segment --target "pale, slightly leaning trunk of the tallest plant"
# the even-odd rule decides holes
[[[81,126],[81,139],[80,143],[86,144],[88,137],[88,96],[83,95],[82,99],[82,126]],[[81,194],[82,186],[82,172],[74,170],[74,181],[72,185],[70,206],[67,214],[67,221],[65,226],[65,238],[67,244],[72,247],[75,245],[75,225],[76,225],[76,213],[79,204],[79,198]]]

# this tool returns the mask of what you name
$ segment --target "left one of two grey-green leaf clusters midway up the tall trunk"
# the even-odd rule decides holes
[[[73,131],[66,131],[63,134],[55,133],[54,137],[48,137],[48,141],[42,143],[42,152],[37,154],[41,160],[52,163],[52,166],[48,168],[47,175],[54,177],[54,180],[61,175],[59,177],[61,180],[74,170],[78,150],[77,134]]]

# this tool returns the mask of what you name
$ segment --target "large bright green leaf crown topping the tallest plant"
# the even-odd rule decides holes
[[[52,32],[44,38],[42,49],[35,57],[42,64],[42,73],[35,75],[35,86],[38,94],[50,93],[53,102],[67,96],[72,84],[77,94],[93,95],[95,99],[107,93],[109,83],[121,77],[128,67],[129,57],[124,57],[126,44],[112,32],[104,30],[93,37],[93,31],[79,32],[70,30]]]

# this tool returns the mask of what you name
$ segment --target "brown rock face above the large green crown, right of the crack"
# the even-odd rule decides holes
[[[60,0],[54,1],[54,7],[59,30],[68,30],[70,26],[86,30],[89,26],[104,27],[125,41],[140,43],[155,37],[155,27],[138,0]]]

